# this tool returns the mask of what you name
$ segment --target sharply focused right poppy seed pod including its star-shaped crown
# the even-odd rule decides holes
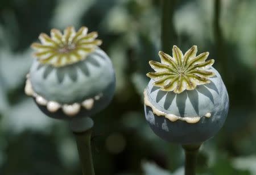
[[[180,144],[197,144],[214,136],[228,114],[228,92],[220,74],[196,56],[194,45],[184,55],[176,46],[172,55],[159,52],[161,62],[150,61],[155,72],[144,90],[144,110],[150,127],[160,138]]]

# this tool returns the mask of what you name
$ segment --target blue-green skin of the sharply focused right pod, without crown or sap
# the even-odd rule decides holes
[[[151,107],[145,105],[147,122],[156,135],[180,144],[197,144],[216,135],[228,114],[229,97],[220,74],[214,68],[209,70],[216,74],[209,78],[210,84],[199,85],[180,94],[160,90],[153,85],[154,80],[148,83],[148,99],[156,109],[181,117],[201,116],[197,123],[183,120],[171,122],[164,116],[153,114]],[[204,116],[207,113],[211,114],[209,118]]]

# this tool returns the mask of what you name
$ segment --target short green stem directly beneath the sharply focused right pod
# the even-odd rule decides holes
[[[182,145],[185,151],[185,175],[196,174],[196,155],[201,144]]]

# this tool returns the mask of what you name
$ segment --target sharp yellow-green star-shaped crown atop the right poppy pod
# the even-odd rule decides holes
[[[209,84],[209,77],[215,74],[207,69],[213,65],[214,60],[205,61],[209,52],[196,56],[197,46],[193,45],[185,55],[176,45],[172,48],[172,56],[159,52],[161,62],[150,61],[149,64],[155,72],[147,76],[155,80],[154,86],[161,87],[163,91],[174,91],[176,94],[184,90],[193,90],[197,85]]]

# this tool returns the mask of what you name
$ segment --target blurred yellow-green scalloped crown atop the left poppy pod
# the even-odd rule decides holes
[[[35,49],[34,55],[40,63],[60,67],[86,59],[102,43],[96,39],[97,36],[97,32],[88,34],[87,27],[81,27],[77,32],[74,27],[67,27],[64,34],[53,28],[51,37],[40,34],[41,44],[33,43],[31,47]]]

